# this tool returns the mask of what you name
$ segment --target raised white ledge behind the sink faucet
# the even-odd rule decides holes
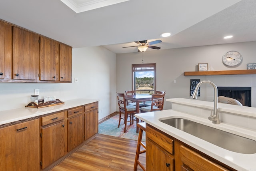
[[[214,102],[210,101],[201,101],[197,99],[185,99],[185,98],[172,98],[166,99],[172,103],[178,103],[182,105],[195,106],[206,109],[213,109]],[[230,105],[226,103],[218,103],[218,110],[228,113],[233,113],[236,115],[245,115],[249,117],[256,117],[256,108],[248,106],[239,106],[239,105]]]

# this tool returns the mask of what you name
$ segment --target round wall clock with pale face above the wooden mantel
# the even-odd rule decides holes
[[[226,66],[237,66],[242,62],[242,56],[239,52],[229,51],[222,56],[222,62]]]

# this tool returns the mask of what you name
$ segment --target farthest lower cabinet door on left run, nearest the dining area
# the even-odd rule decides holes
[[[92,137],[92,135],[98,133],[99,119],[98,119],[98,109],[88,111],[85,113],[85,121],[84,121],[84,131],[85,131],[85,139]]]

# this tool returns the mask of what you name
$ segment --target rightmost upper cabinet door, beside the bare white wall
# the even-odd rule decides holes
[[[72,48],[60,44],[60,81],[72,81]]]

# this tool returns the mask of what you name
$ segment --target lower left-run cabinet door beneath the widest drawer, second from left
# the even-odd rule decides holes
[[[65,123],[60,122],[42,128],[42,169],[50,165],[67,151]]]

